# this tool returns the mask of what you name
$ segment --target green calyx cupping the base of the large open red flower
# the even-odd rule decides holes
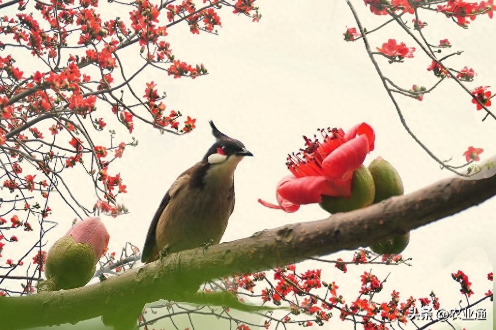
[[[353,172],[350,198],[322,195],[319,205],[329,213],[353,211],[371,205],[374,192],[372,175],[367,167],[362,165]]]

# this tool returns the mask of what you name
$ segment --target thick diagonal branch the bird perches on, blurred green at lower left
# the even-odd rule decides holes
[[[160,299],[230,306],[227,296],[196,294],[202,282],[369,246],[478,205],[496,195],[496,176],[445,179],[327,219],[264,230],[241,240],[169,255],[155,264],[77,289],[0,297],[0,329],[52,326],[102,316],[117,329],[136,322],[145,303]],[[219,298],[220,297],[220,298]],[[236,308],[233,306],[233,308]],[[29,317],[19,311],[29,311]]]

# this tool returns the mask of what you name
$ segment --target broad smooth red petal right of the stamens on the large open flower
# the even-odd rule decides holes
[[[324,175],[332,180],[347,180],[362,165],[369,153],[367,135],[360,135],[341,144],[322,161]]]

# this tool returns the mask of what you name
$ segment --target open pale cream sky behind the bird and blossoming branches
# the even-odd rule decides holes
[[[164,101],[167,109],[197,118],[198,128],[177,137],[135,124],[132,135],[139,140],[138,147],[126,148],[124,158],[113,167],[116,173],[121,172],[127,185],[128,193],[121,195],[121,201],[131,213],[118,218],[103,217],[111,235],[111,251],[119,253],[126,241],[142,247],[149,222],[170,184],[199,161],[213,143],[208,120],[213,120],[220,131],[243,141],[255,155],[243,160],[236,171],[236,207],[222,241],[328,216],[318,205],[303,206],[289,214],[257,202],[257,198],[275,201],[275,186],[288,174],[287,153],[302,147],[302,135],[312,135],[317,128],[338,127],[347,131],[360,122],[370,124],[376,142],[365,164],[377,156],[389,161],[401,175],[405,193],[451,176],[450,172],[440,170],[401,126],[363,43],[343,41],[346,26],[356,26],[345,1],[258,0],[256,4],[263,15],[259,23],[236,17],[229,9],[221,11],[220,36],[192,35],[186,25],[168,30],[168,41],[176,57],[191,64],[204,63],[208,76],[173,79],[147,70],[135,80],[134,86],[144,86],[150,80],[158,83],[159,90],[167,91]],[[354,4],[369,30],[385,21],[382,16],[370,14],[363,1]],[[413,16],[406,17],[412,26]],[[441,56],[450,51],[465,51],[445,63],[453,68],[468,65],[475,69],[478,76],[474,82],[467,83],[469,89],[490,85],[495,86],[493,92],[496,90],[495,20],[479,17],[467,30],[439,14],[423,12],[421,20],[429,23],[423,31],[432,44],[448,38],[453,45],[443,50]],[[388,38],[414,46],[403,31],[391,25],[370,36],[373,49]],[[412,84],[418,84],[429,88],[437,80],[427,71],[431,61],[420,50],[414,55],[403,64],[389,65],[385,58],[378,61],[383,72],[402,87],[409,89]],[[132,60],[126,65],[141,64]],[[481,122],[482,111],[476,111],[469,95],[453,81],[441,83],[422,102],[399,95],[397,99],[413,132],[439,158],[453,157],[453,164],[462,164],[465,161],[462,153],[468,146],[484,148],[483,158],[496,153],[496,122],[491,119]],[[128,140],[128,136],[121,133],[117,140]],[[87,200],[89,204],[94,196],[88,196]],[[459,269],[473,282],[472,301],[481,297],[492,286],[486,276],[494,267],[495,210],[493,198],[413,231],[410,244],[402,253],[413,258],[411,267],[372,267],[379,278],[391,272],[378,297],[385,300],[395,289],[404,301],[410,296],[428,297],[434,290],[441,307],[456,308],[458,300],[464,297],[451,273]],[[60,225],[48,236],[52,242],[67,230],[74,218],[62,205],[57,206],[57,211],[54,220]],[[341,252],[329,259],[350,260],[352,255]],[[308,268],[322,268],[322,279],[335,281],[339,285],[338,293],[351,303],[360,289],[360,274],[371,267],[349,265],[348,272],[343,274],[332,265],[306,262],[299,266],[302,271]],[[493,329],[492,303],[479,307],[487,309],[488,321],[463,324],[454,321],[456,329]],[[331,324],[336,323],[339,329],[352,329],[352,323],[341,323],[339,315],[334,314]],[[422,326],[420,322],[417,324]],[[202,329],[197,324],[195,327]],[[228,329],[227,324],[221,327],[217,329]]]

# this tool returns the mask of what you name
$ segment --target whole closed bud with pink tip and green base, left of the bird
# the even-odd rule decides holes
[[[100,218],[87,218],[72,226],[50,248],[45,264],[47,287],[71,289],[85,285],[95,264],[107,251],[109,233]],[[48,286],[50,285],[50,286]]]

